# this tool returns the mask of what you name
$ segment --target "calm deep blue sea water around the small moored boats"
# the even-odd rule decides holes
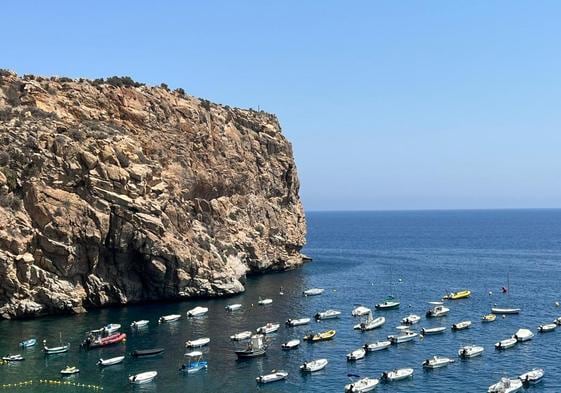
[[[0,366],[0,385],[25,380],[59,380],[67,364],[77,365],[81,373],[70,379],[76,383],[104,387],[108,392],[335,392],[348,383],[347,373],[379,376],[396,367],[413,367],[414,378],[380,384],[379,392],[483,392],[501,376],[517,376],[534,367],[546,370],[545,381],[532,391],[560,392],[561,329],[540,334],[536,328],[561,316],[555,306],[561,301],[561,210],[442,211],[442,212],[338,212],[309,213],[309,236],[305,252],[314,262],[302,269],[254,277],[244,294],[228,299],[152,304],[91,311],[85,315],[47,317],[32,321],[0,321],[0,353],[22,353],[20,364]],[[500,293],[510,277],[508,296]],[[284,296],[279,288],[284,288]],[[304,289],[322,287],[322,296],[304,298]],[[468,300],[451,302],[450,314],[427,321],[427,302],[438,300],[445,292],[469,288]],[[357,320],[350,313],[356,304],[369,307],[393,292],[401,299],[399,310],[380,312],[387,322],[377,330],[360,333],[352,329]],[[489,291],[493,295],[489,295]],[[257,306],[259,296],[271,297],[270,306]],[[237,312],[225,312],[229,303],[242,303]],[[522,313],[489,324],[479,318],[493,304],[518,306]],[[160,315],[185,312],[208,306],[208,316],[158,325]],[[285,328],[271,336],[267,356],[238,361],[229,336],[253,330],[269,321],[283,323],[288,318],[312,317],[317,311],[335,308],[343,312],[338,320],[313,322],[314,330],[336,329],[333,341],[303,343],[297,350],[283,352],[280,344],[301,338],[310,327]],[[348,363],[345,354],[364,343],[396,333],[399,320],[409,313],[423,316],[418,327],[445,325],[470,319],[471,329],[393,346],[387,351],[368,354],[366,359]],[[142,332],[131,332],[130,322],[149,319]],[[79,344],[84,332],[106,323],[121,323],[129,334],[125,344],[83,351]],[[517,347],[497,352],[496,341],[512,335],[518,328],[536,332],[535,338]],[[35,336],[58,342],[59,334],[72,343],[70,352],[45,357],[41,346],[18,349],[22,338]],[[178,372],[185,340],[210,337],[204,349],[210,365],[193,375]],[[462,345],[485,347],[482,357],[434,370],[424,371],[423,359],[432,355],[457,357]],[[124,364],[98,369],[99,357],[128,354],[134,349],[164,347],[163,356],[133,359]],[[303,376],[298,367],[308,359],[329,359],[323,371]],[[285,382],[258,386],[255,377],[271,369],[285,369]],[[127,383],[128,375],[148,370],[159,373],[155,382],[142,387]],[[2,390],[2,389],[0,389]],[[64,385],[33,385],[6,389],[22,392],[89,391]]]

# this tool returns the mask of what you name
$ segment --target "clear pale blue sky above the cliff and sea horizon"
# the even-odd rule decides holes
[[[6,1],[0,68],[278,114],[307,210],[561,207],[559,1]]]

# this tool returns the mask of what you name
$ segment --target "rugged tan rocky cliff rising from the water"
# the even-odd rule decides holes
[[[0,72],[0,316],[243,291],[302,263],[275,116]]]

